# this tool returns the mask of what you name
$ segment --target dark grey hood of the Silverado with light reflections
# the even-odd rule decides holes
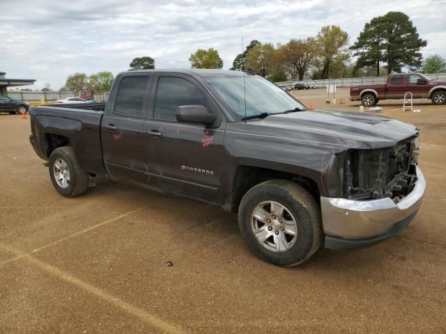
[[[325,109],[268,116],[252,124],[270,128],[259,130],[263,133],[270,133],[269,130],[274,130],[275,134],[286,132],[291,138],[314,138],[314,141],[351,148],[390,147],[418,133],[417,127],[399,120]]]

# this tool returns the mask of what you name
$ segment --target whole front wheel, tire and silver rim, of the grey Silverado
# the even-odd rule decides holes
[[[257,257],[291,267],[311,257],[322,244],[321,212],[302,186],[270,180],[245,194],[238,226]]]

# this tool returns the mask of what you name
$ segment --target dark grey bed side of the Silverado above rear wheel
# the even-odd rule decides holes
[[[105,103],[33,106],[30,141],[38,156],[49,159],[52,147],[70,143],[81,166],[91,173],[105,172],[100,123]]]

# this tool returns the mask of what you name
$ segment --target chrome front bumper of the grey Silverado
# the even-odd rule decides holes
[[[397,204],[390,198],[360,201],[321,197],[325,236],[350,241],[359,239],[372,241],[377,237],[383,239],[382,237],[398,223],[407,222],[403,224],[401,230],[405,228],[420,208],[426,189],[426,180],[420,168],[416,168],[416,173],[417,181],[414,189]]]

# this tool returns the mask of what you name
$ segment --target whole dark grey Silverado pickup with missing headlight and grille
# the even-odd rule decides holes
[[[238,212],[252,252],[281,266],[321,246],[393,237],[424,196],[415,126],[309,111],[249,72],[123,72],[106,104],[30,113],[31,144],[62,196],[81,195],[102,175],[220,205]]]

